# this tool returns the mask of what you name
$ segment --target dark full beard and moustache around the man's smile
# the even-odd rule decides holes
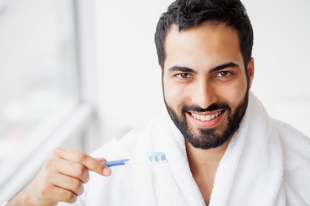
[[[165,98],[164,102],[171,120],[181,131],[184,138],[193,147],[207,150],[223,145],[239,127],[239,124],[241,123],[248,107],[249,88],[247,88],[243,101],[234,110],[232,110],[226,102],[215,102],[207,109],[203,109],[197,105],[183,105],[180,109],[180,114],[178,115],[166,102]],[[188,114],[188,111],[208,112],[215,110],[225,110],[227,113],[227,118],[224,120],[224,125],[221,126],[221,128],[215,126],[213,128],[194,129],[187,121],[186,115],[190,115]]]

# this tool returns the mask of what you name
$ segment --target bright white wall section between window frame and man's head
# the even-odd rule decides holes
[[[163,107],[155,26],[167,0],[97,0],[99,112],[106,139],[143,128]]]

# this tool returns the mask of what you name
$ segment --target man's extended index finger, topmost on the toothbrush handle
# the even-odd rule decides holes
[[[108,166],[104,165],[99,160],[96,160],[95,158],[92,158],[91,156],[81,153],[79,151],[56,148],[53,150],[53,153],[57,154],[64,160],[80,163],[84,165],[87,169],[95,171],[96,173],[103,176],[109,176],[111,174],[111,169]]]

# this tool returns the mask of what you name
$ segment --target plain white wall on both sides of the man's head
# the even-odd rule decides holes
[[[99,114],[105,140],[163,107],[154,33],[172,0],[96,0]],[[310,136],[310,1],[244,0],[254,28],[253,91],[272,117]]]

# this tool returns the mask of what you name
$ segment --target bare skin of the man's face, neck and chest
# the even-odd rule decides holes
[[[196,105],[202,109],[217,102],[227,103],[232,110],[244,100],[254,77],[254,59],[245,67],[237,32],[220,24],[203,24],[179,32],[172,25],[165,39],[166,58],[162,83],[165,102],[182,116],[183,105]],[[231,64],[233,63],[233,64]],[[232,66],[233,65],[233,66]],[[188,68],[184,69],[177,68]],[[246,69],[249,71],[249,87]],[[187,124],[195,135],[199,129],[213,128],[216,133],[228,124],[228,112],[211,121],[197,120],[185,112]],[[194,112],[211,115],[218,111]],[[216,169],[228,146],[228,140],[219,147],[200,149],[186,141],[186,149],[193,177],[209,204]]]

